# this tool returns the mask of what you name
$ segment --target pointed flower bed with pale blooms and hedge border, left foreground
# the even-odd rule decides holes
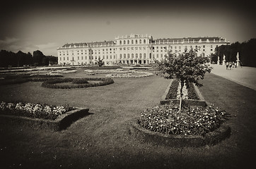
[[[2,101],[0,118],[6,118],[29,127],[58,131],[66,129],[79,118],[89,115],[88,111],[88,108],[21,103],[7,104]]]

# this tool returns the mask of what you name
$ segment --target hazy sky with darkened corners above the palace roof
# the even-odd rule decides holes
[[[130,34],[245,42],[256,37],[253,6],[246,1],[10,2],[1,6],[0,49],[57,56],[57,47],[66,43]]]

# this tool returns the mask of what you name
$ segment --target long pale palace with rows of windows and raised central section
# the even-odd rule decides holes
[[[197,54],[214,54],[216,46],[229,44],[221,37],[187,37],[153,39],[148,35],[115,37],[112,41],[71,43],[57,49],[59,65],[92,65],[98,58],[105,65],[149,64],[161,60],[168,51],[180,54],[197,49]]]

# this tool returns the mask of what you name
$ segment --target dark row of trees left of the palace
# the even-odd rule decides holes
[[[34,51],[33,55],[18,51],[14,53],[12,51],[1,50],[0,51],[0,67],[20,67],[23,65],[54,65],[58,63],[58,58],[55,56],[45,56],[42,51]]]

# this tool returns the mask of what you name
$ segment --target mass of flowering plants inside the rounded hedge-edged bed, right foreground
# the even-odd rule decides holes
[[[228,118],[220,108],[183,106],[179,111],[174,104],[148,108],[137,120],[141,127],[153,132],[175,135],[204,136],[220,127]]]

